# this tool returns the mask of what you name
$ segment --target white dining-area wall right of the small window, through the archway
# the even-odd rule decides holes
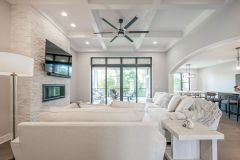
[[[199,69],[198,88],[203,91],[233,92],[235,86],[235,62],[228,62]]]

